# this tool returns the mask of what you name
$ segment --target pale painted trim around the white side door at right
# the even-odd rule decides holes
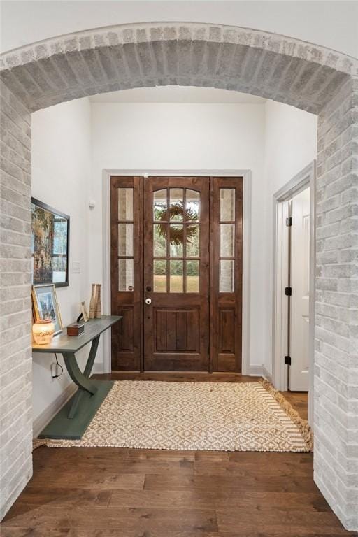
[[[287,227],[284,225],[287,201],[310,187],[310,289],[312,299],[309,311],[309,373],[308,421],[313,425],[313,365],[315,324],[315,189],[316,161],[301,170],[273,194],[273,312],[272,312],[272,381],[276,389],[287,390],[287,367],[284,357],[287,349]],[[287,246],[286,246],[287,245]],[[268,375],[270,376],[270,375]]]

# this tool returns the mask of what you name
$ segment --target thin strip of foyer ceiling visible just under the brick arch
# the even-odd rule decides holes
[[[266,99],[248,93],[214,87],[157,86],[102,93],[90,97],[92,103],[242,103],[264,104]]]

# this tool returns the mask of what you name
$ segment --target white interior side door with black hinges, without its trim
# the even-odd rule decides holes
[[[310,313],[310,189],[292,199],[289,389],[308,392]]]

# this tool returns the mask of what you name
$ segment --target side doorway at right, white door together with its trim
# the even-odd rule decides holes
[[[312,394],[315,162],[276,192],[274,217],[273,378],[278,389]]]

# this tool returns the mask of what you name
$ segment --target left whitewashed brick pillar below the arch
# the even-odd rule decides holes
[[[0,520],[32,475],[31,116],[1,83]]]

